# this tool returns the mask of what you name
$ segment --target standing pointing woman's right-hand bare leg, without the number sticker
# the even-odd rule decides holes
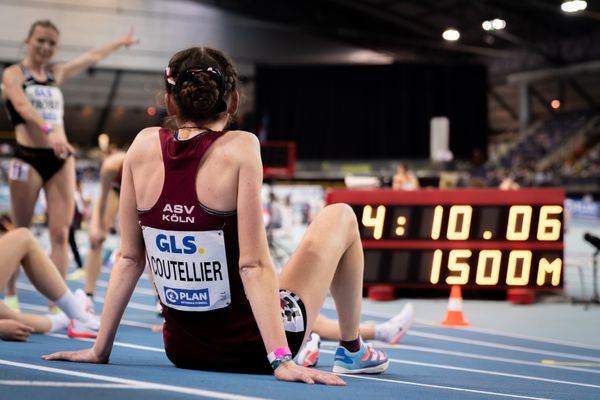
[[[65,165],[44,185],[48,209],[50,258],[65,278],[69,267],[69,226],[75,211],[75,159]]]

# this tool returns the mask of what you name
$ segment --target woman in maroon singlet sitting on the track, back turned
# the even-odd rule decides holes
[[[44,358],[108,362],[147,254],[177,367],[342,385],[292,360],[330,291],[340,326],[333,371],[385,371],[388,357],[359,336],[363,251],[352,209],[325,207],[278,276],[263,225],[258,139],[226,130],[239,100],[234,67],[218,50],[189,48],[171,58],[165,84],[174,129],[142,130],[125,157],[121,258],[102,329],[93,347]]]

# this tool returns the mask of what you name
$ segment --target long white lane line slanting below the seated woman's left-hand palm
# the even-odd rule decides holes
[[[138,381],[138,380],[134,380],[134,379],[118,378],[115,376],[98,375],[98,374],[92,374],[92,373],[88,373],[88,372],[71,371],[68,369],[44,367],[44,366],[36,365],[36,364],[26,364],[26,363],[20,363],[20,362],[14,362],[14,361],[9,361],[9,360],[2,360],[2,359],[0,359],[0,364],[7,365],[10,367],[16,367],[16,368],[26,368],[26,369],[31,369],[31,370],[35,370],[35,371],[50,372],[50,373],[54,373],[54,374],[61,374],[61,375],[67,375],[67,376],[76,376],[78,378],[95,379],[95,380],[105,381],[105,382],[120,383],[123,385],[131,385],[131,386],[135,386],[136,389],[140,388],[140,389],[163,390],[163,391],[167,391],[167,392],[184,393],[184,394],[190,394],[190,395],[194,395],[194,396],[204,396],[204,397],[209,397],[209,398],[213,398],[213,399],[224,399],[224,400],[259,400],[259,399],[262,400],[262,399],[264,399],[263,397],[243,396],[243,395],[238,395],[238,394],[234,394],[234,393],[216,392],[213,390],[184,388],[184,387],[171,386],[171,385],[165,385],[165,384],[160,384],[160,383]]]

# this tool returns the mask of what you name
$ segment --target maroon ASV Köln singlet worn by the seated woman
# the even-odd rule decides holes
[[[167,233],[166,235],[155,234],[156,238],[160,238],[156,239],[159,243],[158,247],[163,250],[176,252],[196,250],[193,243],[186,243],[185,239],[176,237],[178,233],[173,231],[200,232],[200,235],[204,231],[218,231],[224,235],[231,294],[228,305],[200,312],[178,310],[172,305],[180,304],[183,300],[180,300],[177,294],[173,295],[171,291],[170,295],[173,295],[176,300],[173,304],[165,304],[171,299],[165,297],[165,291],[170,289],[162,288],[161,303],[165,317],[163,339],[166,354],[173,364],[181,368],[202,370],[268,373],[272,370],[239,274],[237,214],[235,211],[210,210],[200,204],[196,194],[196,176],[200,160],[210,145],[225,133],[208,131],[189,140],[179,141],[170,130],[161,129],[159,135],[165,168],[162,192],[152,208],[138,210],[138,217],[142,229]],[[168,234],[169,232],[171,235]],[[148,251],[149,244],[154,245],[154,242],[148,243],[146,234],[144,236]],[[175,239],[169,241],[172,237]],[[181,240],[184,241],[183,244],[180,243]],[[217,267],[209,265],[206,277],[205,271],[199,271],[198,268],[194,270],[190,265],[196,265],[195,260],[201,257],[191,253],[186,260],[193,259],[194,262],[190,261],[185,265],[179,263],[179,267],[174,266],[171,269],[164,267],[158,272],[161,274],[168,272],[171,278],[174,275],[183,281],[204,278],[210,280],[222,275],[219,272],[223,271],[218,270],[219,265]],[[148,258],[156,279],[156,268],[158,265],[164,266],[164,263],[157,264],[154,259],[152,260],[154,264],[151,263],[150,252]],[[185,293],[181,294],[183,292]],[[183,290],[179,290],[178,293],[184,300],[189,300],[186,304],[202,306],[201,301],[196,301],[198,300],[196,293]]]

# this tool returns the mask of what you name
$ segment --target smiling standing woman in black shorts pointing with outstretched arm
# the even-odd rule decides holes
[[[74,212],[75,159],[63,124],[64,102],[59,85],[123,46],[136,44],[133,30],[66,63],[50,64],[58,44],[58,28],[36,21],[25,40],[25,58],[2,74],[2,96],[15,127],[16,147],[9,167],[12,214],[17,227],[29,227],[43,188],[48,205],[50,257],[66,275],[69,226]],[[16,273],[7,296],[16,295]],[[13,298],[13,304],[18,303]]]

